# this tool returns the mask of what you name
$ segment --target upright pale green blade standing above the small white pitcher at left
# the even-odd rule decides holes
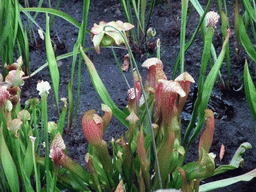
[[[57,110],[59,111],[59,68],[57,65],[57,61],[54,55],[51,38],[50,38],[50,27],[49,27],[49,16],[46,13],[46,34],[45,34],[45,46],[46,46],[46,55],[47,61],[49,65],[50,75],[52,79],[52,86],[54,91],[54,98],[57,106]]]

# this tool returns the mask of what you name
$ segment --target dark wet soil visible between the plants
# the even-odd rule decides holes
[[[37,1],[35,0],[30,0],[30,6],[37,6],[36,2]],[[52,7],[55,7],[56,3],[56,0],[52,0]],[[64,11],[65,13],[71,15],[77,21],[81,22],[83,7],[82,3],[82,0],[62,0],[59,10]],[[202,5],[205,6],[205,3],[202,3]],[[45,2],[43,6],[47,7],[48,5]],[[237,91],[237,89],[243,83],[243,65],[244,59],[247,56],[244,54],[243,50],[241,51],[241,54],[239,56],[235,55],[236,38],[234,36],[233,26],[234,17],[232,17],[234,12],[234,4],[228,2],[228,6],[231,15],[231,77],[229,78],[229,76],[227,75],[227,68],[224,63],[221,69],[221,74],[226,83],[226,86],[224,86],[218,79],[212,93],[211,101],[208,106],[216,113],[215,135],[211,152],[215,153],[218,157],[221,145],[225,145],[226,152],[223,160],[220,162],[218,158],[216,158],[216,166],[219,166],[222,164],[228,164],[237,148],[243,142],[250,142],[254,148],[246,151],[246,153],[244,154],[244,168],[239,168],[235,171],[231,171],[226,174],[214,177],[210,180],[218,180],[237,176],[256,168],[256,137],[254,132],[255,123],[247,105],[243,89]],[[216,4],[213,3],[210,9],[217,11]],[[179,25],[181,15],[180,12],[180,1],[171,0],[171,9],[167,5],[167,3],[158,2],[154,9],[152,20],[150,22],[150,26],[154,27],[157,31],[156,37],[154,39],[151,39],[150,42],[155,43],[157,38],[161,39],[161,60],[164,63],[164,70],[169,79],[171,79],[174,62],[179,52]],[[122,14],[122,7],[120,6],[118,0],[91,1],[88,17],[88,29],[92,28],[94,23],[99,23],[102,20],[105,20],[107,22],[116,20],[125,21],[125,17]],[[187,26],[187,40],[192,36],[198,20],[199,15],[194,10]],[[45,29],[44,14],[39,14],[37,21],[40,26]],[[219,24],[218,28],[215,31],[213,41],[217,53],[219,53],[221,49],[221,32],[219,30],[220,27],[221,26]],[[37,28],[35,27],[35,29]],[[74,43],[76,42],[77,36],[78,28],[72,26],[70,23],[61,18],[55,17],[55,25],[53,25],[51,28],[51,37],[56,44],[56,56],[63,53],[71,52]],[[35,42],[31,42],[31,72],[35,71],[46,62],[44,42],[40,41],[39,38],[37,38],[37,40],[37,44],[35,44]],[[186,53],[185,70],[194,77],[196,82],[198,82],[199,77],[202,45],[202,38],[200,35],[198,35],[195,43]],[[87,35],[86,43],[84,46],[93,46],[90,40],[90,35]],[[155,54],[154,49],[151,50],[151,52],[153,53],[153,55]],[[101,54],[97,54],[94,50],[91,50],[88,51],[87,54],[92,62],[95,64],[95,67],[100,77],[102,78],[106,88],[108,89],[112,99],[121,109],[123,109],[127,105],[126,92],[128,86],[126,85],[121,73],[119,72],[111,50],[101,49]],[[127,52],[125,50],[117,49],[116,54],[119,62],[122,62],[123,57],[127,54]],[[141,63],[148,58],[148,56],[146,53],[137,53],[136,57],[142,77],[144,77],[145,79],[147,71],[140,66]],[[63,59],[61,60],[61,62],[59,62],[60,98],[67,97],[67,84],[70,79],[71,63],[72,58]],[[255,70],[255,64],[253,65],[252,63],[249,63],[249,65],[252,70]],[[131,72],[127,72],[125,75],[127,76],[128,80],[132,82]],[[26,84],[23,87],[23,101],[28,98],[39,97],[36,91],[36,84],[38,80],[50,81],[50,75],[47,68],[26,81]],[[197,83],[195,83],[195,86],[196,85]],[[192,87],[191,98],[193,97],[193,90],[195,89],[195,86]],[[75,85],[74,92],[76,91],[77,88]],[[193,99],[189,99],[190,103],[188,102],[186,110],[182,113],[183,129],[185,129],[185,125],[188,123],[190,118],[192,100]],[[87,110],[90,109],[95,109],[97,113],[101,113],[101,103],[101,100],[99,99],[92,86],[86,66],[83,63],[82,89],[77,117],[74,121],[72,132],[70,134],[64,135],[68,154],[77,162],[79,162],[79,164],[81,164],[82,166],[85,166],[84,155],[87,152],[87,142],[81,129],[81,117]],[[54,105],[53,91],[51,91],[49,97],[49,113],[49,120],[56,122],[58,119]],[[126,129],[118,122],[118,120],[113,118],[104,135],[104,139],[106,141],[110,141],[112,137],[117,139],[125,131]],[[198,142],[195,142],[191,148],[191,152],[188,155],[187,162],[197,159],[197,146]],[[240,182],[231,187],[215,191],[256,191],[255,181],[256,180],[253,179],[251,182]]]

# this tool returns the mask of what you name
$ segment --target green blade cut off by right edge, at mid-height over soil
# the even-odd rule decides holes
[[[245,90],[246,100],[250,107],[252,116],[256,121],[256,89],[249,72],[247,61],[245,61],[245,66],[244,66],[244,90]]]

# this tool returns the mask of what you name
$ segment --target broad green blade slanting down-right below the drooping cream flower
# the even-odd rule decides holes
[[[95,69],[91,60],[84,53],[82,46],[80,46],[80,52],[81,52],[81,54],[84,58],[85,64],[86,64],[87,69],[90,73],[91,81],[93,83],[93,86],[94,86],[95,90],[97,91],[98,95],[100,96],[101,100],[112,109],[113,114],[115,115],[115,117],[122,124],[124,124],[126,127],[128,127],[129,123],[128,123],[128,121],[125,120],[127,118],[127,115],[123,111],[121,111],[115,105],[113,100],[111,99],[110,95],[108,94],[108,91],[107,91],[106,87],[104,86],[102,80],[100,79],[100,77],[97,73],[97,70]]]

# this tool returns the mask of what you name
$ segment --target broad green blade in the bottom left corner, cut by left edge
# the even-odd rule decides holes
[[[0,125],[0,158],[3,170],[12,192],[19,192],[19,178],[15,163],[6,145],[3,126]]]

